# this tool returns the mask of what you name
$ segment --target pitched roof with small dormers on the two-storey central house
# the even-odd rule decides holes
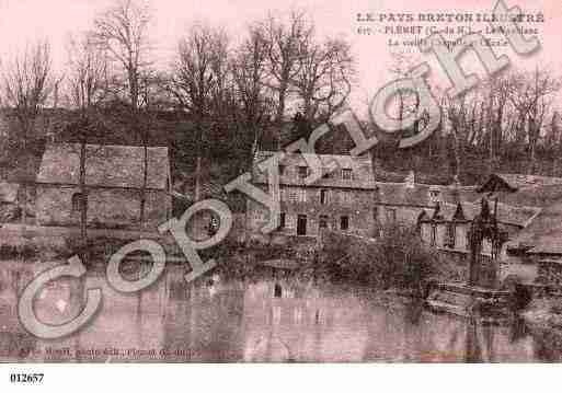
[[[259,171],[259,164],[273,157],[273,151],[261,151],[254,159],[253,181],[259,184],[267,183],[267,173]],[[306,158],[312,154],[285,153],[279,162],[286,166],[308,166]],[[314,186],[340,187],[340,188],[363,188],[375,189],[375,176],[372,174],[372,162],[369,155],[339,155],[339,154],[317,154],[323,167],[329,167],[335,161],[340,169],[351,169],[353,171],[352,180],[344,180],[341,176],[322,177],[314,182]],[[282,176],[279,180],[284,185],[306,186],[303,178],[299,176]]]

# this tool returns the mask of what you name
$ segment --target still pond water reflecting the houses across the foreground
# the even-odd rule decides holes
[[[31,336],[18,321],[18,293],[39,264],[0,268],[0,361],[559,361],[550,338],[515,322],[483,325],[435,314],[420,304],[367,290],[293,279],[183,280],[168,267],[149,289],[113,290],[104,271],[49,284],[36,298],[39,319],[59,324],[81,310],[85,288],[102,288],[103,305],[79,333]]]

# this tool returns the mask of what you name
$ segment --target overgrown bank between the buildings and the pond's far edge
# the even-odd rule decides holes
[[[4,226],[0,229],[3,240],[0,258],[34,262],[80,255],[84,256],[87,265],[103,265],[130,240],[158,239],[164,246],[168,263],[185,263],[173,239],[158,233],[103,229],[90,229],[88,233],[89,241],[82,244],[79,228]],[[285,275],[382,290],[397,289],[417,297],[432,280],[456,281],[463,277],[461,267],[439,259],[436,253],[421,244],[415,233],[405,229],[388,229],[378,239],[326,234],[322,243],[319,247],[286,247],[226,240],[198,253],[203,261],[215,259],[216,271],[227,279],[253,280],[264,274],[271,275],[271,269],[265,269],[262,263],[286,259],[294,262],[294,267]],[[129,257],[149,261],[141,252]]]

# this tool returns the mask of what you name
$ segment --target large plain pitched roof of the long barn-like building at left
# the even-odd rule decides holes
[[[142,147],[87,145],[85,184],[123,188],[142,188],[145,152]],[[165,189],[170,178],[167,147],[149,147],[147,188]],[[79,184],[80,145],[47,146],[37,183]]]

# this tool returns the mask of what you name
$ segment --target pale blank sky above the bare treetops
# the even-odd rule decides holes
[[[36,37],[47,37],[53,47],[55,63],[62,68],[66,59],[65,43],[71,32],[91,27],[92,21],[100,10],[112,3],[112,0],[0,0],[0,59],[7,54],[18,50]],[[279,5],[279,4],[284,5]],[[352,43],[353,53],[357,60],[358,86],[355,89],[353,102],[360,105],[385,83],[390,81],[387,72],[390,56],[387,46],[388,35],[359,35],[356,14],[362,12],[385,13],[406,12],[417,15],[420,12],[489,12],[495,5],[491,0],[297,0],[283,2],[278,0],[152,0],[154,11],[151,36],[154,56],[159,63],[168,65],[181,37],[195,21],[221,25],[234,39],[244,33],[248,23],[264,18],[267,12],[283,12],[291,4],[305,8],[310,12],[320,36],[345,36]],[[431,5],[429,5],[431,4]],[[456,10],[450,7],[455,4]],[[515,5],[512,0],[508,7]],[[542,49],[527,58],[516,55],[511,47],[503,51],[512,62],[521,68],[535,68],[536,65],[548,66],[562,72],[562,4],[560,0],[538,0],[520,2],[519,7],[526,12],[543,12],[544,23],[534,24],[540,30],[539,39]],[[411,25],[412,23],[410,23]],[[420,24],[420,23],[414,23]],[[375,23],[370,26],[377,30],[387,24]],[[395,24],[394,24],[395,25]],[[444,25],[444,24],[440,24]],[[456,24],[451,24],[456,25]],[[531,25],[528,25],[531,26]],[[411,38],[411,35],[398,36],[399,39]],[[425,37],[425,35],[420,36]],[[451,36],[452,37],[452,36]],[[435,78],[444,78],[433,60],[433,55],[420,55],[429,61]],[[469,55],[464,63],[473,66],[474,57]],[[435,68],[435,69],[434,69]],[[475,68],[482,74],[481,68]]]

